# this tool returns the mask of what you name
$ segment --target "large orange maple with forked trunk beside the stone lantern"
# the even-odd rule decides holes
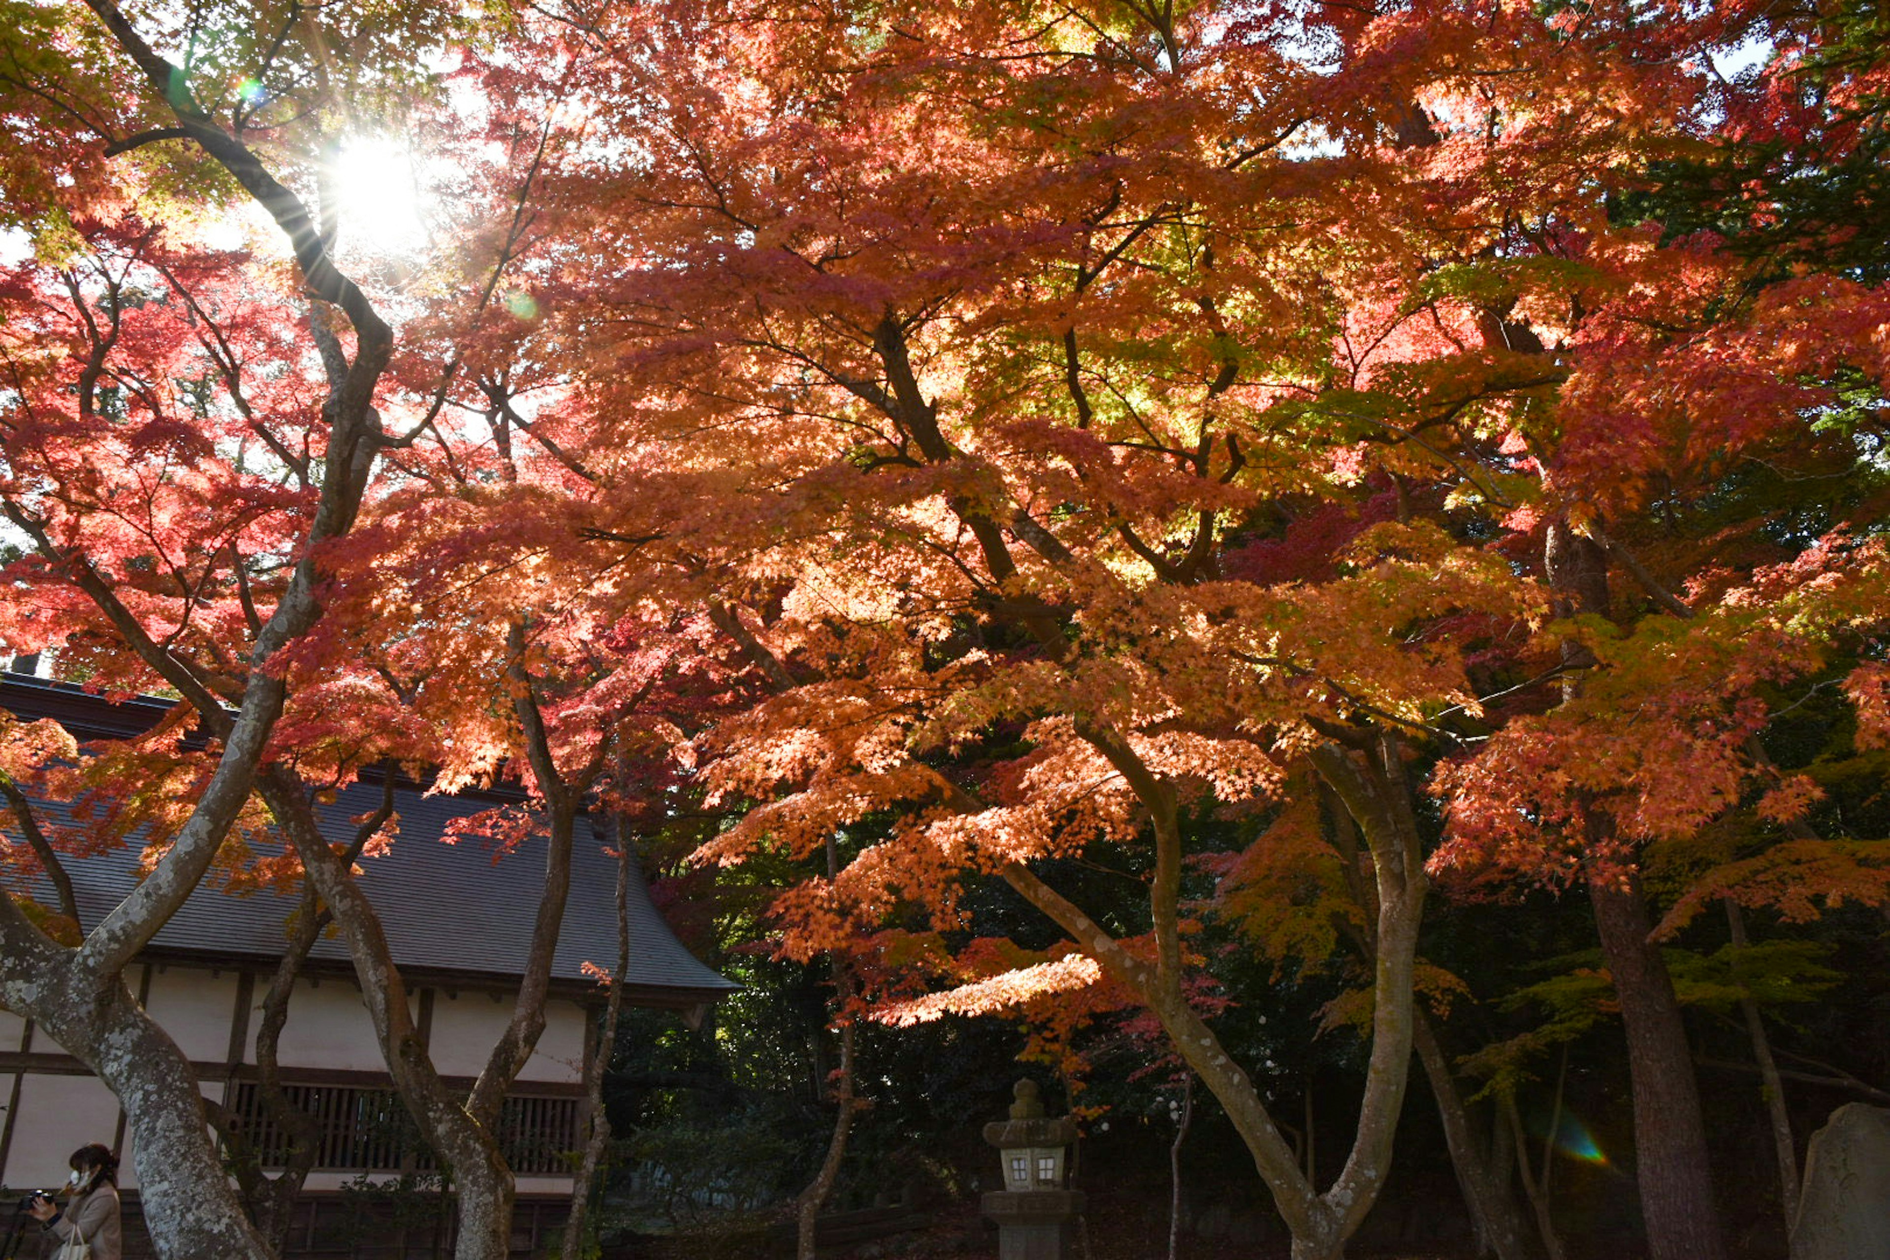
[[[1387,98],[1387,30],[1321,17],[1336,76],[1206,9],[915,11],[862,38],[671,6],[586,34],[644,136],[575,185],[610,259],[563,312],[609,368],[582,374],[575,455],[612,487],[597,536],[694,578],[777,691],[707,739],[722,799],[762,801],[707,856],[813,852],[892,810],[833,897],[809,888],[809,948],[902,903],[951,924],[964,878],[1002,877],[1162,1018],[1302,1252],[1334,1252],[1410,1058],[1425,880],[1400,729],[1474,705],[1455,648],[1404,629],[1531,616],[1499,559],[1418,519],[1353,531],[1315,587],[1228,572],[1268,502],[1359,478],[1357,421],[1319,406],[1334,340],[1452,338],[1372,310],[1395,259],[1331,244],[1427,144]],[[1397,64],[1416,87],[1423,57]],[[1340,353],[1353,385],[1387,359]],[[1185,999],[1185,812],[1295,763],[1374,871],[1372,1069],[1332,1186]],[[1092,839],[1153,844],[1147,937],[1030,867]]]

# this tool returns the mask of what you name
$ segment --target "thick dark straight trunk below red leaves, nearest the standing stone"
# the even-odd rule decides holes
[[[1722,1260],[1726,1243],[1712,1203],[1707,1126],[1680,1003],[1659,950],[1641,882],[1589,880],[1601,952],[1627,1030],[1635,1096],[1635,1162],[1652,1260]]]

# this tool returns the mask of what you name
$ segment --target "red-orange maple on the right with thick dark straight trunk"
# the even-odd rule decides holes
[[[1641,34],[1650,51],[1761,36],[1780,43],[1773,91],[1796,74],[1803,30],[1790,19],[1716,13],[1693,34]],[[1716,108],[1750,102],[1720,96]],[[1699,142],[1680,127],[1667,144],[1692,153]],[[1624,191],[1644,187],[1627,174]],[[1433,784],[1452,831],[1435,861],[1586,884],[1627,1031],[1650,1245],[1659,1256],[1720,1254],[1692,1054],[1650,941],[1639,852],[1697,837],[1756,795],[1758,816],[1790,837],[1771,854],[1773,875],[1809,860],[1784,877],[1792,897],[1882,895],[1867,844],[1805,827],[1816,788],[1780,775],[1761,735],[1782,690],[1814,680],[1882,618],[1877,544],[1852,533],[1877,525],[1867,497],[1850,521],[1826,516],[1797,536],[1782,523],[1803,519],[1790,504],[1796,478],[1847,467],[1867,476],[1858,444],[1873,438],[1854,408],[1860,393],[1881,395],[1886,310],[1856,278],[1792,276],[1737,238],[1618,212],[1576,230],[1561,215],[1529,249],[1535,276],[1516,283],[1525,272],[1510,264],[1510,280],[1486,293],[1512,351],[1567,370],[1554,404],[1518,408],[1506,436],[1538,478],[1506,527],[1565,618],[1546,639],[1557,656],[1537,657],[1559,676]],[[1501,276],[1478,270],[1484,283]],[[1516,327],[1520,314],[1527,327]],[[1871,673],[1864,663],[1852,684],[1865,725],[1858,684]],[[1709,886],[1739,878],[1724,871]],[[1761,905],[1767,894],[1746,886],[1743,899]],[[1758,1033],[1750,1011],[1748,1022]],[[1786,1130],[1786,1201],[1790,1166]]]

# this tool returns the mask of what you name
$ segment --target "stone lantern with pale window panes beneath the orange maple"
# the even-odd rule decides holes
[[[1047,1118],[1036,1081],[1019,1081],[1011,1094],[1011,1118],[985,1126],[1004,1166],[1004,1190],[987,1194],[981,1207],[998,1222],[998,1260],[1064,1260],[1083,1211],[1083,1192],[1064,1188],[1075,1120]]]

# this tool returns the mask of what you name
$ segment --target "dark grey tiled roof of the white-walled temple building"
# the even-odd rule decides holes
[[[123,735],[142,729],[163,712],[161,703],[106,705],[76,688],[19,674],[0,680],[0,703],[21,716],[57,716],[81,737]],[[359,782],[321,807],[323,824],[336,841],[353,833],[350,818],[380,805],[380,784]],[[387,945],[403,969],[478,977],[516,977],[525,962],[531,926],[544,878],[544,843],[527,841],[518,852],[493,861],[478,841],[440,841],[455,818],[503,803],[503,797],[423,795],[418,786],[395,788],[401,814],[399,839],[380,858],[363,858],[361,888],[380,911]],[[53,818],[62,810],[49,809]],[[586,962],[616,962],[616,860],[603,850],[580,820],[573,844],[571,897],[565,905],[552,975],[588,984]],[[68,860],[79,897],[79,914],[96,924],[136,880],[136,854],[119,850],[100,858]],[[43,894],[42,894],[43,895]],[[297,899],[268,892],[229,895],[198,888],[183,909],[157,933],[153,952],[217,960],[270,960],[282,954],[284,924]],[[669,931],[650,903],[641,875],[629,890],[629,977],[626,999],[643,1005],[694,1005],[739,988],[699,963]],[[316,943],[316,960],[348,962],[340,939]]]

